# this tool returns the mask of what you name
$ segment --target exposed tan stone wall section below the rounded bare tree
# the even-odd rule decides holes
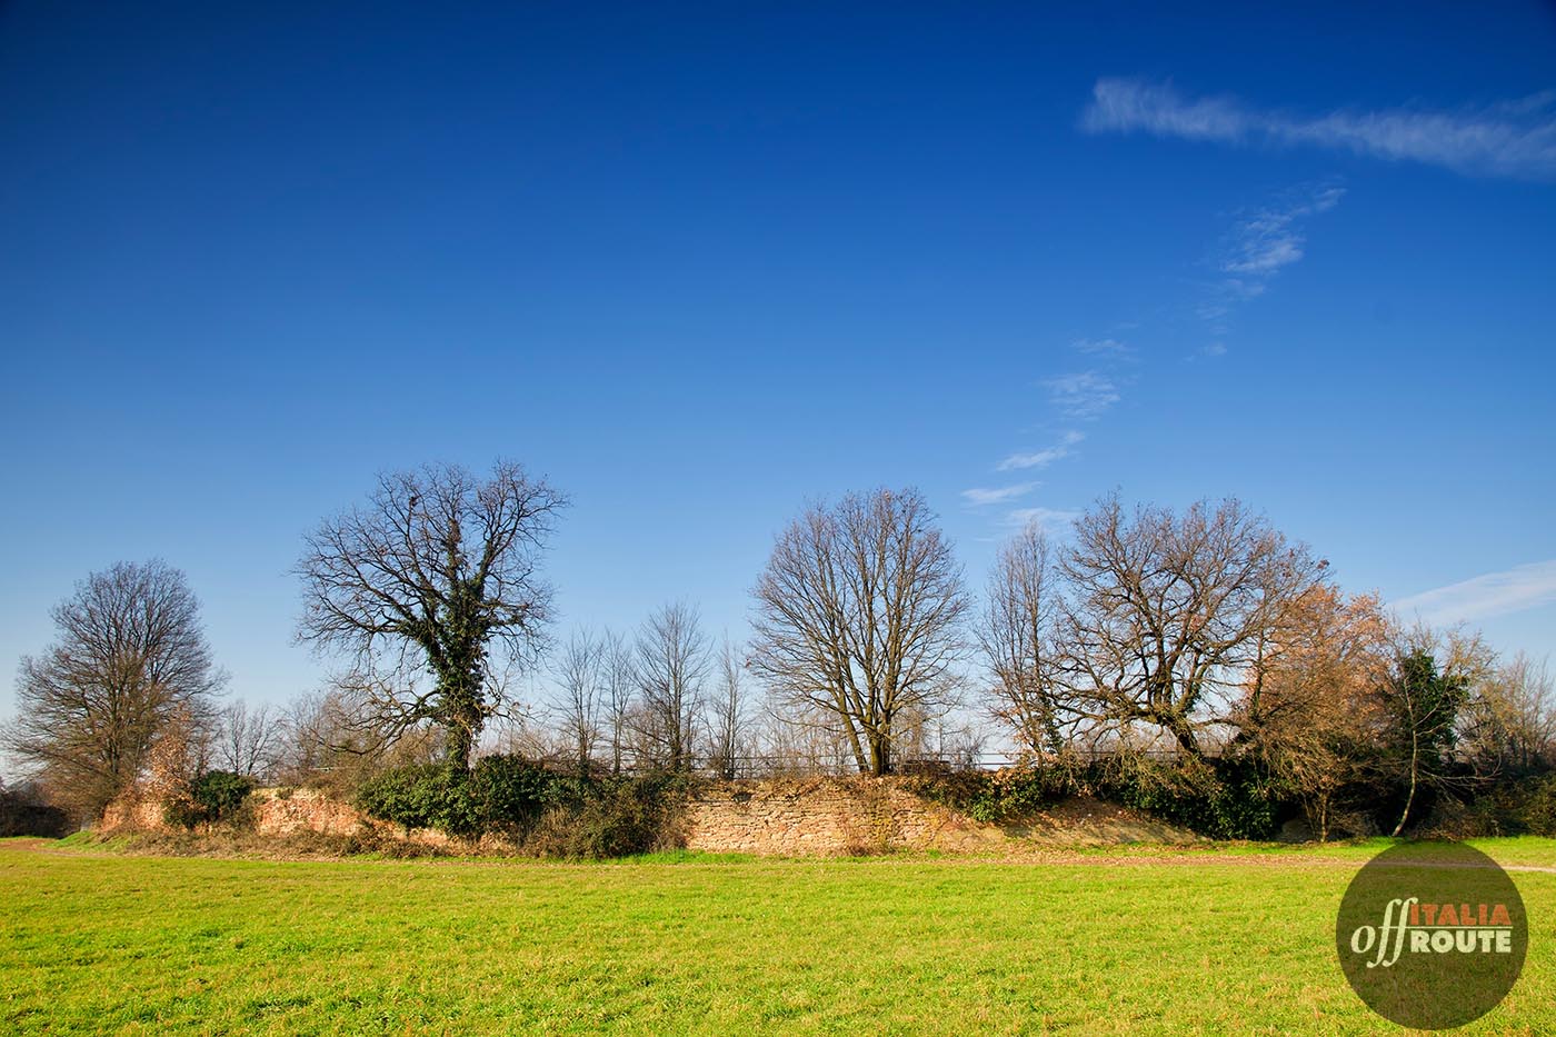
[[[899,779],[724,782],[703,786],[686,807],[692,850],[829,856],[974,850],[1001,841],[997,827],[930,803]]]

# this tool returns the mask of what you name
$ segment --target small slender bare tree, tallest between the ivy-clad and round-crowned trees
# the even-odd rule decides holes
[[[692,763],[708,676],[708,637],[697,610],[675,603],[660,607],[638,632],[636,684],[643,708],[638,733],[654,761],[669,771]]]

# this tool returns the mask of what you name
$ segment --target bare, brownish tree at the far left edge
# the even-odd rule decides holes
[[[53,620],[59,640],[22,659],[5,744],[76,811],[98,816],[176,718],[209,722],[226,676],[184,573],[160,561],[92,573]]]

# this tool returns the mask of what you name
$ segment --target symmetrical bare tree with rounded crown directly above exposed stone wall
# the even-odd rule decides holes
[[[898,718],[954,699],[966,610],[924,498],[850,494],[778,537],[756,584],[753,668],[790,715],[829,716],[862,772],[887,774]]]

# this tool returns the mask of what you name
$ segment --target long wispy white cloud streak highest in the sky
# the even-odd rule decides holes
[[[1556,90],[1458,111],[1293,115],[1235,97],[1186,97],[1170,83],[1105,78],[1092,87],[1081,128],[1231,145],[1310,145],[1474,176],[1556,179]]]

